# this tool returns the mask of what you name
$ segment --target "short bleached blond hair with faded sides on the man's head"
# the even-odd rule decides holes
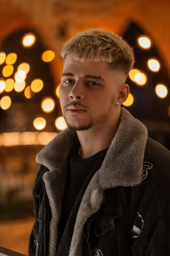
[[[67,55],[76,61],[106,61],[109,67],[120,68],[126,76],[134,65],[133,48],[119,35],[102,29],[79,32],[66,41],[60,55],[65,62]]]

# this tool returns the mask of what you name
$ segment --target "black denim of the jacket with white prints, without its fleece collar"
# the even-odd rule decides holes
[[[29,256],[48,256],[51,209],[40,166],[33,189],[35,224]],[[74,212],[72,213],[74,214]],[[148,138],[142,182],[105,190],[84,226],[82,256],[170,256],[170,152]],[[75,255],[79,256],[79,255]]]

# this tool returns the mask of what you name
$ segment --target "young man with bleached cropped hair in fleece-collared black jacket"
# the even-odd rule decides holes
[[[36,157],[29,256],[170,256],[170,151],[121,108],[133,50],[91,29],[61,55],[68,128]]]

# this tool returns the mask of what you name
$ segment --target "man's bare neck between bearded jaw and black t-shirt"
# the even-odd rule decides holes
[[[119,126],[120,112],[114,120],[96,125],[87,131],[77,131],[81,145],[81,157],[88,158],[111,145]]]

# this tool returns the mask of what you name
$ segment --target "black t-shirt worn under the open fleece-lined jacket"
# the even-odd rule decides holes
[[[84,185],[85,181],[88,186],[88,183],[91,181],[91,170],[94,168],[100,157],[103,155],[105,156],[108,151],[108,148],[105,148],[104,150],[99,151],[91,157],[82,159],[78,154],[79,146],[80,145],[78,143],[71,150],[68,157],[68,172],[65,184],[65,194],[62,203],[62,214],[58,227],[57,248],[59,248],[59,244],[67,225],[68,218],[77,199],[77,196],[82,189],[82,186]],[[100,166],[98,166],[98,168],[100,168]],[[88,177],[89,180],[87,182]]]

